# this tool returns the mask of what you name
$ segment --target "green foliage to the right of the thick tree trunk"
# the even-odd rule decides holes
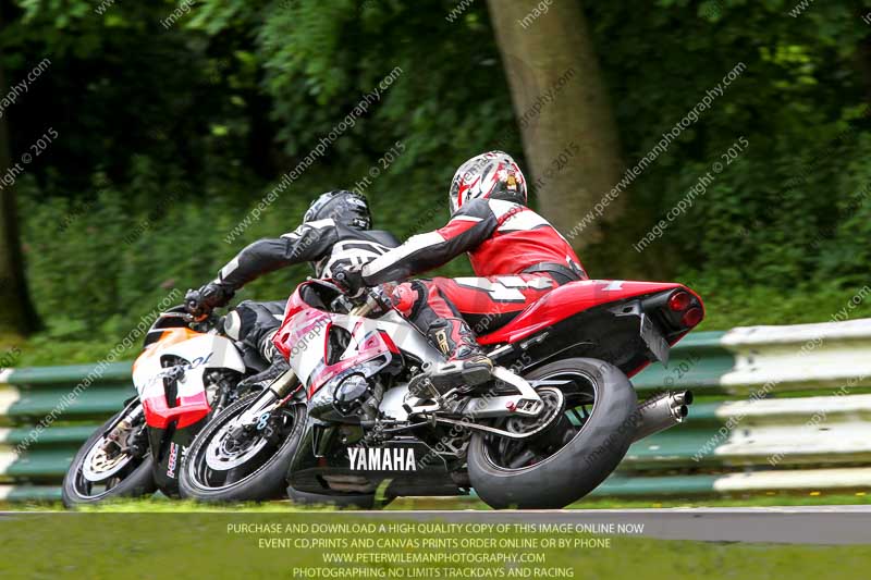
[[[792,17],[796,3],[661,0],[643,14],[587,3],[628,164],[746,65],[634,184],[634,201],[659,221],[740,137],[749,141],[654,242],[712,293],[759,297],[743,287],[783,294],[810,282],[849,297],[868,281],[870,30],[844,3],[817,2]],[[763,303],[755,310],[764,314]]]

